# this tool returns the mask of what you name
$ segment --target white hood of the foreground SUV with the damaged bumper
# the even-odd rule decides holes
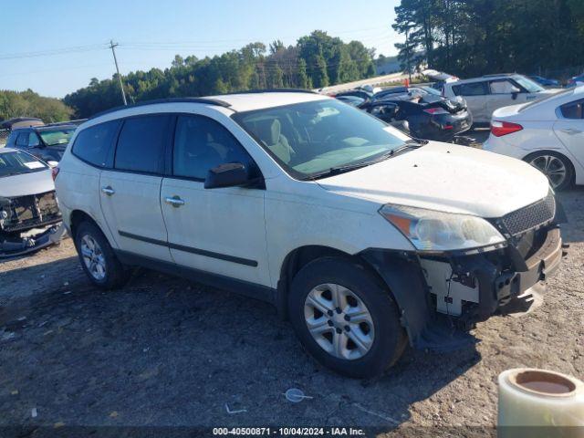
[[[429,142],[377,164],[318,180],[325,190],[373,203],[501,217],[547,195],[547,178],[526,162]]]

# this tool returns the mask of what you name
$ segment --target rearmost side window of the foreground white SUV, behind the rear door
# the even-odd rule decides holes
[[[104,167],[119,126],[119,120],[112,120],[81,130],[71,152],[81,160]]]

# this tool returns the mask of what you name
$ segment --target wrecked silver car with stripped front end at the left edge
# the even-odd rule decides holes
[[[0,258],[57,244],[64,230],[47,163],[0,149]]]

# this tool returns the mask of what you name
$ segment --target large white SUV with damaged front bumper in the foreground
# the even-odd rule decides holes
[[[349,376],[381,373],[408,339],[459,347],[561,259],[554,194],[527,163],[309,92],[111,110],[57,169],[95,285],[148,266],[264,299]]]

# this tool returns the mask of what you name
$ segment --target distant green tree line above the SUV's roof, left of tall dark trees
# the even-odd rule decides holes
[[[320,89],[375,75],[374,49],[359,41],[314,31],[296,45],[276,40],[268,47],[251,43],[215,57],[175,56],[170,68],[133,71],[123,76],[130,102],[222,94],[248,89]],[[117,76],[98,80],[68,94],[63,101],[79,118],[121,103]]]

